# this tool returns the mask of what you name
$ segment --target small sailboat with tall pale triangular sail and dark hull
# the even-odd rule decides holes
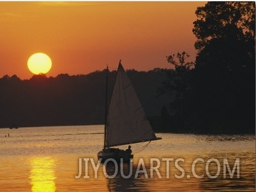
[[[156,137],[154,134],[132,82],[124,71],[121,60],[118,65],[109,107],[107,107],[107,91],[106,83],[104,148],[98,152],[98,160],[102,159],[101,162],[103,162],[112,158],[117,162],[120,162],[121,159],[130,161],[133,154],[114,146],[154,141],[162,138]]]

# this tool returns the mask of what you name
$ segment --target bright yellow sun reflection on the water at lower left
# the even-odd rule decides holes
[[[56,160],[50,157],[33,158],[30,161],[31,191],[53,192],[56,190],[55,168]]]

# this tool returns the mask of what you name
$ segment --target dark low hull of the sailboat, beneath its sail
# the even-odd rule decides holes
[[[102,163],[110,158],[116,160],[117,163],[120,163],[121,159],[123,159],[123,162],[129,162],[133,158],[133,154],[126,153],[118,148],[102,149],[102,151],[98,152],[97,156],[98,160],[102,159]]]

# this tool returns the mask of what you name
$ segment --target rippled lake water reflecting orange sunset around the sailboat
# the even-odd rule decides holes
[[[145,144],[132,145],[132,166],[101,163],[94,175],[88,158],[97,163],[102,133],[102,125],[1,128],[0,191],[255,191],[255,135],[156,134],[162,140],[140,153]]]

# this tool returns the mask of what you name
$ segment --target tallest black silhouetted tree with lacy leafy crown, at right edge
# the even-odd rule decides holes
[[[205,123],[255,127],[255,3],[208,2],[193,33],[194,107]]]

